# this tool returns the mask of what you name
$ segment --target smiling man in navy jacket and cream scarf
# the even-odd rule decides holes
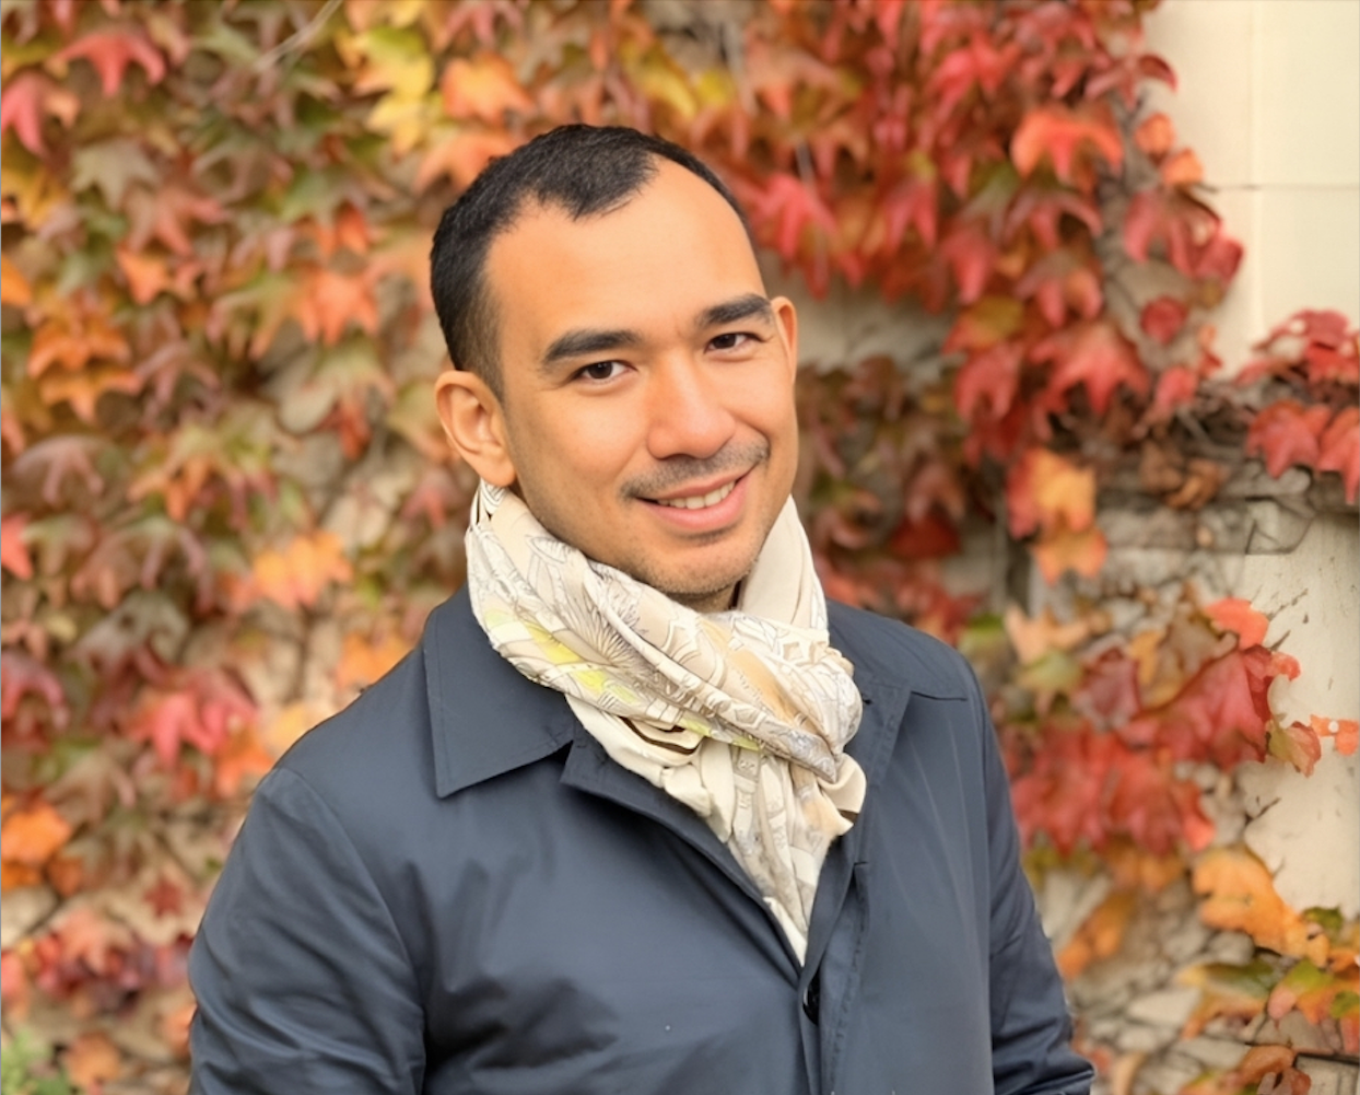
[[[468,586],[260,785],[201,1092],[1078,1092],[986,707],[831,605],[793,305],[675,146],[567,127],[446,214]]]

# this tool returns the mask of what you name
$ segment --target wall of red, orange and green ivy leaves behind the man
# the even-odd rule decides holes
[[[1157,966],[1171,1041],[1231,1050],[1195,1091],[1306,1090],[1266,1020],[1353,1060],[1355,913],[1280,896],[1239,786],[1353,754],[1353,713],[1284,713],[1312,671],[1259,605],[1122,552],[1244,558],[1262,499],[1353,520],[1357,336],[1273,316],[1221,359],[1242,248],[1149,103],[1151,11],[5,0],[5,1091],[182,1090],[184,959],[253,781],[462,579],[432,226],[574,120],[706,156],[775,276],[883,302],[842,335],[930,317],[823,341],[798,501],[832,596],[989,683],[1032,876],[1084,895],[1059,962],[1106,1081],[1160,1090],[1178,1049],[1108,1003],[1167,915],[1205,933]]]

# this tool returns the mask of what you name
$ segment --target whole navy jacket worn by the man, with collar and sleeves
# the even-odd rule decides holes
[[[842,605],[831,637],[869,789],[805,964],[460,593],[260,784],[190,958],[193,1091],[1088,1091],[972,673]]]

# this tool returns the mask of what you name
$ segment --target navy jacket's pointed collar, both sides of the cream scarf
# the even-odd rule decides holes
[[[872,782],[919,681],[904,680],[903,665],[889,664],[877,642],[858,635],[851,616],[868,613],[831,605],[831,642],[855,667],[865,717],[849,752]],[[466,588],[430,615],[422,654],[441,798],[551,756],[577,737],[579,722],[566,698],[526,680],[487,642]]]

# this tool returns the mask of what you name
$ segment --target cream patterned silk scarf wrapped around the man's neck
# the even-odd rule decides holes
[[[830,645],[792,499],[737,609],[713,615],[588,559],[487,483],[466,548],[472,611],[496,652],[564,692],[615,762],[703,818],[802,958],[821,864],[865,779],[845,752],[860,692]]]

